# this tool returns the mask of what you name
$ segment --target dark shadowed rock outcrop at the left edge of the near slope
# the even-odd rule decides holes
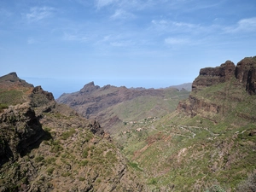
[[[44,130],[29,103],[11,107],[0,114],[0,166],[8,160],[17,160],[32,145],[44,137]]]

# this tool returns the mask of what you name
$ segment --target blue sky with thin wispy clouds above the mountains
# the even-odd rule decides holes
[[[193,82],[256,55],[255,0],[0,0],[0,76],[54,93]]]

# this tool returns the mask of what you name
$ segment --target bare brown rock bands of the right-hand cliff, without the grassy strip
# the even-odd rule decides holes
[[[206,95],[211,96],[207,93],[197,94],[207,87],[225,82],[229,82],[229,84],[226,84],[223,90],[219,90],[218,94],[213,96],[214,102],[207,97],[204,98]],[[220,112],[225,113],[230,107],[224,105],[224,101],[239,102],[242,100],[242,96],[239,94],[232,96],[232,92],[229,92],[230,89],[235,92],[236,89],[242,89],[247,90],[250,95],[256,94],[256,56],[247,57],[238,62],[236,66],[232,61],[226,61],[220,67],[202,68],[192,84],[192,93],[189,99],[179,102],[177,110],[192,117],[197,114],[207,117]]]

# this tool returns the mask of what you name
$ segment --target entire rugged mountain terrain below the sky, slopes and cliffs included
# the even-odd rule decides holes
[[[55,102],[1,77],[0,191],[255,191],[256,56],[191,88],[91,82]]]

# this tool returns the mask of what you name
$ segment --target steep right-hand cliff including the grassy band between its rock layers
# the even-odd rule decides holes
[[[201,115],[217,122],[231,111],[236,111],[239,103],[253,101],[250,95],[255,95],[255,88],[255,56],[241,60],[236,66],[233,62],[226,61],[220,67],[202,68],[192,84],[189,99],[179,102],[177,111],[192,117]],[[216,114],[218,118],[214,119]],[[241,112],[237,110],[236,115],[241,116]],[[253,120],[253,115],[247,113],[245,116],[250,116],[248,119]]]

